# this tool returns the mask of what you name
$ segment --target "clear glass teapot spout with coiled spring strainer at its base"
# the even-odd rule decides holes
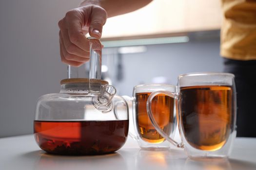
[[[93,105],[101,112],[109,112],[113,108],[112,98],[117,93],[117,90],[112,85],[104,85],[101,88],[100,94],[93,98]]]

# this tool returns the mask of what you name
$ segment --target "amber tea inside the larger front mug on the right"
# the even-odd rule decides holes
[[[220,149],[233,125],[233,91],[230,86],[180,88],[180,112],[184,135],[194,148]]]

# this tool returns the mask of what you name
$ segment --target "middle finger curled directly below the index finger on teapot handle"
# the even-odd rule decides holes
[[[59,32],[59,37],[61,38],[64,48],[68,53],[80,57],[90,57],[87,51],[80,49],[78,46],[76,46],[70,41],[67,29],[61,29]]]

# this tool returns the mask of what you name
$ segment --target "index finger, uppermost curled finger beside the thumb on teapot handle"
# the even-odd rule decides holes
[[[80,12],[81,13],[81,12]],[[78,46],[83,51],[90,51],[88,39],[85,37],[84,30],[84,17],[80,16],[79,11],[69,12],[66,14],[65,22],[68,30],[68,36],[71,43]]]

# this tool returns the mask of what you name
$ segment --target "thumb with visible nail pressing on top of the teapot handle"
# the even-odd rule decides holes
[[[100,38],[102,34],[102,27],[106,23],[106,20],[107,12],[99,6],[93,6],[89,34],[93,37]]]

